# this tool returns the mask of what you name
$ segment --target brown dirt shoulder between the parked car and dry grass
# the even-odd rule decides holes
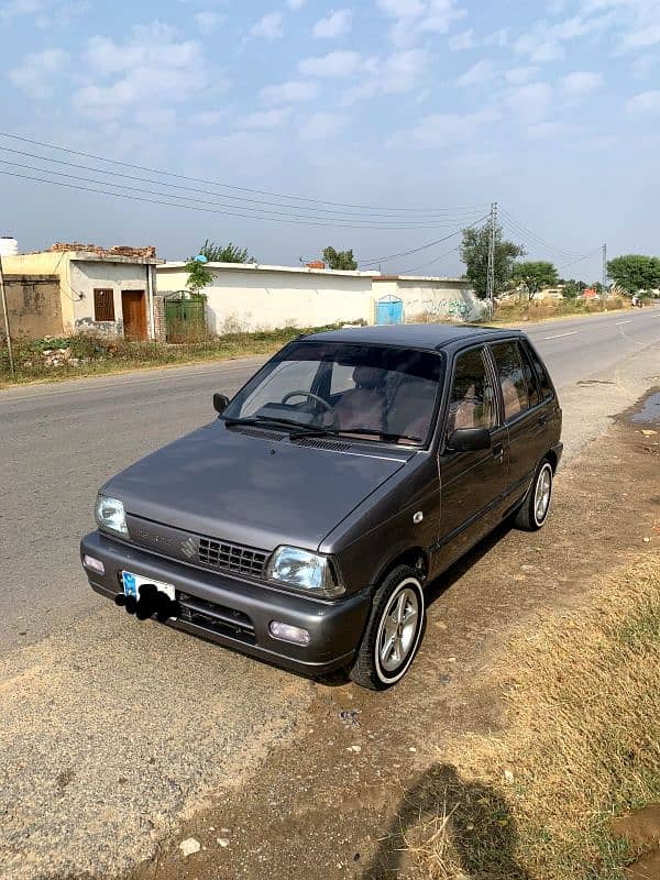
[[[605,581],[612,588],[631,566],[657,565],[660,429],[629,416],[560,471],[541,532],[502,528],[433,584],[425,641],[405,683],[384,694],[318,685],[294,738],[248,784],[219,790],[215,805],[190,816],[131,880],[458,877],[435,857],[414,857],[414,847],[402,851],[400,832],[416,824],[419,794],[438,773],[444,792],[459,787],[461,803],[487,804],[501,829],[497,868],[474,876],[530,877],[516,861],[507,803],[461,783],[452,768],[472,737],[506,735],[514,641],[519,653],[543,624],[570,628],[593,613]],[[645,436],[646,428],[659,432]],[[479,822],[470,833],[479,836]],[[185,858],[179,844],[189,837],[201,849]]]

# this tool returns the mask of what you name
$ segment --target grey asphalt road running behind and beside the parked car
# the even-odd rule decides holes
[[[528,324],[569,455],[660,382],[660,309]],[[182,810],[240,780],[314,685],[127,618],[78,562],[105,480],[213,418],[262,359],[0,392],[0,876],[148,857]]]

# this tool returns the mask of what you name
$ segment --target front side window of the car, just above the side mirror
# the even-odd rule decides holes
[[[461,428],[493,428],[495,394],[483,348],[459,354],[454,370],[447,433]]]

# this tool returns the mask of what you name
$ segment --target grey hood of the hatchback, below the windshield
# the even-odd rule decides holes
[[[265,550],[316,549],[415,454],[254,433],[212,422],[122,471],[102,492],[128,514],[199,535]]]

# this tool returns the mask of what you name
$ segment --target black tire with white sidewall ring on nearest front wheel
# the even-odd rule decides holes
[[[404,592],[406,596],[402,598]],[[413,620],[413,609],[417,603],[416,626],[414,629],[410,627],[408,634],[398,636],[398,642],[403,647],[411,634],[408,647],[402,651],[400,662],[396,663],[395,654],[387,662],[396,663],[396,666],[386,669],[383,666],[380,646],[384,646],[387,624],[393,625],[392,612],[396,609],[397,600],[404,604],[404,613],[409,613],[409,620]],[[425,625],[426,603],[419,572],[410,565],[398,565],[384,579],[374,593],[369,623],[353,666],[349,670],[349,678],[355,684],[369,688],[371,691],[384,691],[392,688],[403,679],[410,668],[421,644]]]

